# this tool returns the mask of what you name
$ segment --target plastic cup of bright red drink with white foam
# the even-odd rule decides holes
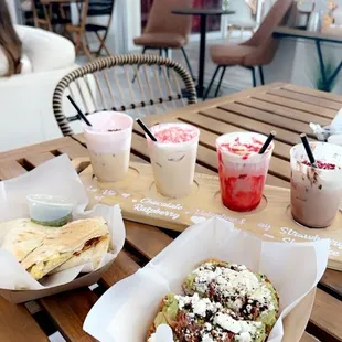
[[[274,150],[271,142],[264,154],[258,154],[266,139],[254,132],[233,132],[217,138],[221,197],[227,209],[249,212],[259,205]],[[248,147],[255,151],[246,152]]]

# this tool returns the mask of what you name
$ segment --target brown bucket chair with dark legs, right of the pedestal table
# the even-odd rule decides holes
[[[278,0],[264,19],[259,29],[250,40],[242,44],[213,45],[211,47],[212,60],[217,64],[210,86],[204,95],[207,97],[218,71],[222,68],[220,82],[215,92],[217,96],[223,76],[228,66],[244,66],[252,71],[253,86],[256,86],[255,67],[258,66],[261,84],[265,84],[263,65],[270,63],[278,47],[278,42],[272,38],[276,26],[286,19],[286,14],[292,6],[293,0]]]

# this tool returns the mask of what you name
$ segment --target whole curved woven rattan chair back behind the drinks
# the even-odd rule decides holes
[[[132,82],[133,75],[136,82]],[[103,57],[64,76],[53,95],[53,110],[62,133],[71,136],[74,132],[70,124],[78,117],[65,115],[74,113],[66,95],[71,95],[86,115],[116,110],[143,117],[197,101],[188,71],[158,55]]]

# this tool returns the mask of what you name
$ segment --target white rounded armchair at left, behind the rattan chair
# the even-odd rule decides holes
[[[61,137],[53,92],[77,66],[74,45],[67,39],[35,28],[15,30],[32,73],[0,77],[0,152]]]

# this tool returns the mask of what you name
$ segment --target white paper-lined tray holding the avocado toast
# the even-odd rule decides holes
[[[101,342],[146,341],[164,295],[182,293],[184,277],[203,260],[217,258],[244,264],[270,279],[280,312],[268,342],[296,342],[308,323],[328,254],[329,241],[263,242],[214,217],[188,228],[145,268],[113,286],[88,313],[84,330]]]

